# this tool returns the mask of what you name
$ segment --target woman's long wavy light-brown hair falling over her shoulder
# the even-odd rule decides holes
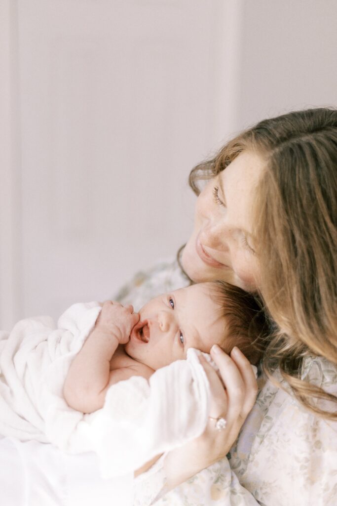
[[[291,112],[259,122],[197,165],[189,182],[209,179],[242,151],[265,163],[255,202],[260,294],[277,326],[263,358],[271,377],[279,367],[298,400],[337,419],[318,400],[337,398],[301,379],[303,359],[337,364],[337,110]],[[333,407],[334,406],[334,407]]]

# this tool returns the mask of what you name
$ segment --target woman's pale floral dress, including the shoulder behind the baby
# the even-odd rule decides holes
[[[176,262],[163,262],[138,273],[118,299],[138,310],[187,284]],[[142,475],[134,505],[336,506],[337,423],[304,409],[278,371],[274,376],[284,390],[260,378],[257,401],[227,457],[167,493],[155,465]],[[305,360],[302,378],[337,394],[337,368],[322,357]]]

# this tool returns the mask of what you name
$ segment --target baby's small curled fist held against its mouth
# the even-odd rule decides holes
[[[138,323],[139,315],[133,307],[122,306],[119,302],[106,301],[97,319],[96,328],[116,336],[119,344],[124,345],[130,339],[132,327]]]

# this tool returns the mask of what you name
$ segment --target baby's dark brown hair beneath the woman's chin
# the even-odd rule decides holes
[[[261,301],[225,281],[211,281],[210,285],[211,297],[219,304],[220,316],[226,322],[220,348],[230,353],[237,346],[252,364],[257,364],[270,334],[270,322]]]

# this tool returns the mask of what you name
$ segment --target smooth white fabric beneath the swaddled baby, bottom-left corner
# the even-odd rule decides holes
[[[51,444],[0,439],[0,504],[130,506],[128,477],[102,479],[94,453],[69,455]]]

